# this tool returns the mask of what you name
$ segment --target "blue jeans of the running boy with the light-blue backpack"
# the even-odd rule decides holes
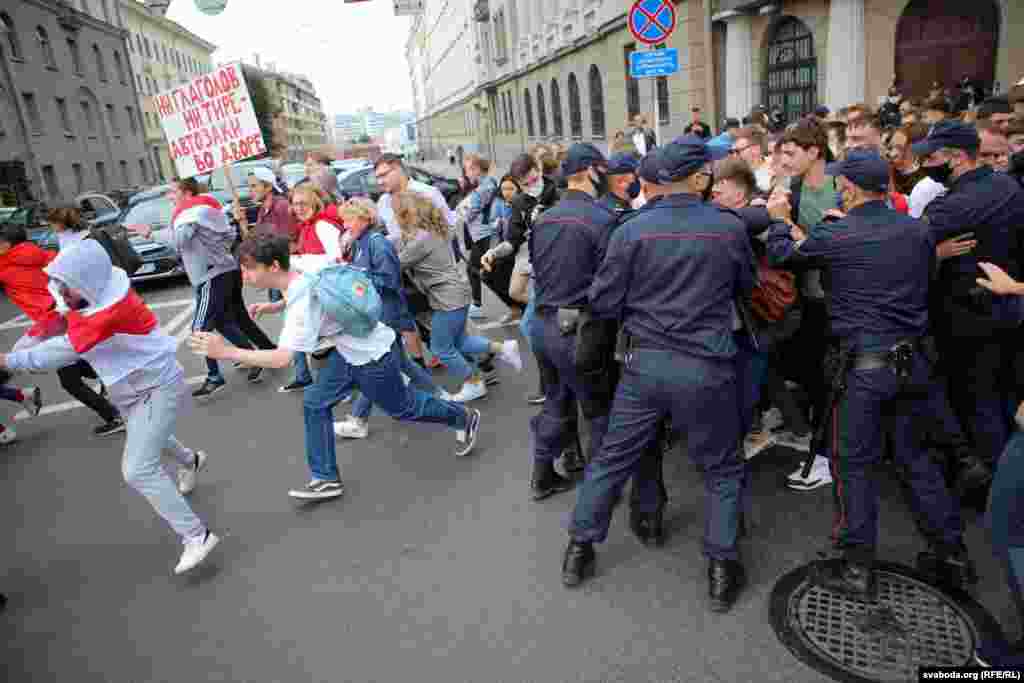
[[[337,349],[331,350],[327,365],[316,373],[316,383],[302,395],[306,462],[314,478],[339,478],[332,411],[353,388],[395,420],[443,424],[452,429],[466,427],[465,408],[406,386],[401,381],[400,352],[395,343],[379,360],[352,366]]]

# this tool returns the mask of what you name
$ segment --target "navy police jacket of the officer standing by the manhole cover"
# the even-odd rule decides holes
[[[822,269],[829,329],[844,347],[883,351],[928,330],[934,238],[885,202],[815,225],[801,243],[787,224],[776,223],[768,232],[768,260]]]

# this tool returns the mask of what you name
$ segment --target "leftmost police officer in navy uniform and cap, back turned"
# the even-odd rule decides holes
[[[535,501],[568,490],[555,459],[575,441],[568,407],[579,400],[590,422],[590,453],[597,453],[608,424],[610,400],[594,394],[577,372],[575,331],[588,304],[588,290],[604,259],[616,216],[597,202],[607,186],[607,161],[592,144],[573,144],[562,163],[568,190],[534,223],[528,247],[534,267],[537,314],[530,342],[545,373],[546,400],[530,421],[534,433]],[[610,392],[609,392],[610,394]]]

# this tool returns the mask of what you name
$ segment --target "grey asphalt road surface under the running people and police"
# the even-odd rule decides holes
[[[187,329],[186,285],[142,294],[163,325]],[[492,319],[503,312],[494,299],[486,305]],[[0,348],[25,331],[17,316],[0,304]],[[280,330],[280,321],[263,324],[271,336]],[[202,381],[202,358],[184,345],[179,357]],[[300,505],[287,492],[308,476],[301,396],[276,392],[290,372],[251,386],[225,368],[229,388],[178,423],[182,441],[210,454],[191,500],[224,537],[184,578],[171,572],[175,537],[122,481],[122,437],[93,437],[95,416],[70,405],[54,375],[17,378],[42,386],[50,408],[15,422],[19,442],[0,451],[0,591],[10,598],[0,679],[824,680],[768,621],[775,581],[815,558],[831,519],[827,488],[782,487],[797,454],[774,449],[753,462],[742,548],[751,587],[730,613],[705,607],[702,489],[680,449],[667,460],[667,546],[640,546],[620,510],[596,579],[570,592],[559,568],[573,495],[527,496],[535,409],[522,397],[535,372],[531,362],[522,375],[505,372],[479,401],[476,455],[456,459],[446,431],[375,416],[368,440],[339,443],[345,497]],[[17,407],[6,405],[0,419],[10,424]],[[881,555],[910,563],[924,544],[892,477],[884,497]],[[978,598],[1016,632],[976,520],[968,543],[983,575]]]

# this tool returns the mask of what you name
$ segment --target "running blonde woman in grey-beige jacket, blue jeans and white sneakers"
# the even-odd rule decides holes
[[[487,395],[476,354],[493,353],[516,371],[522,370],[519,343],[493,342],[466,334],[471,300],[469,284],[459,274],[452,253],[446,217],[431,202],[414,193],[391,199],[400,230],[398,260],[413,284],[427,296],[431,314],[430,350],[449,368],[462,388],[452,400],[466,402]]]

